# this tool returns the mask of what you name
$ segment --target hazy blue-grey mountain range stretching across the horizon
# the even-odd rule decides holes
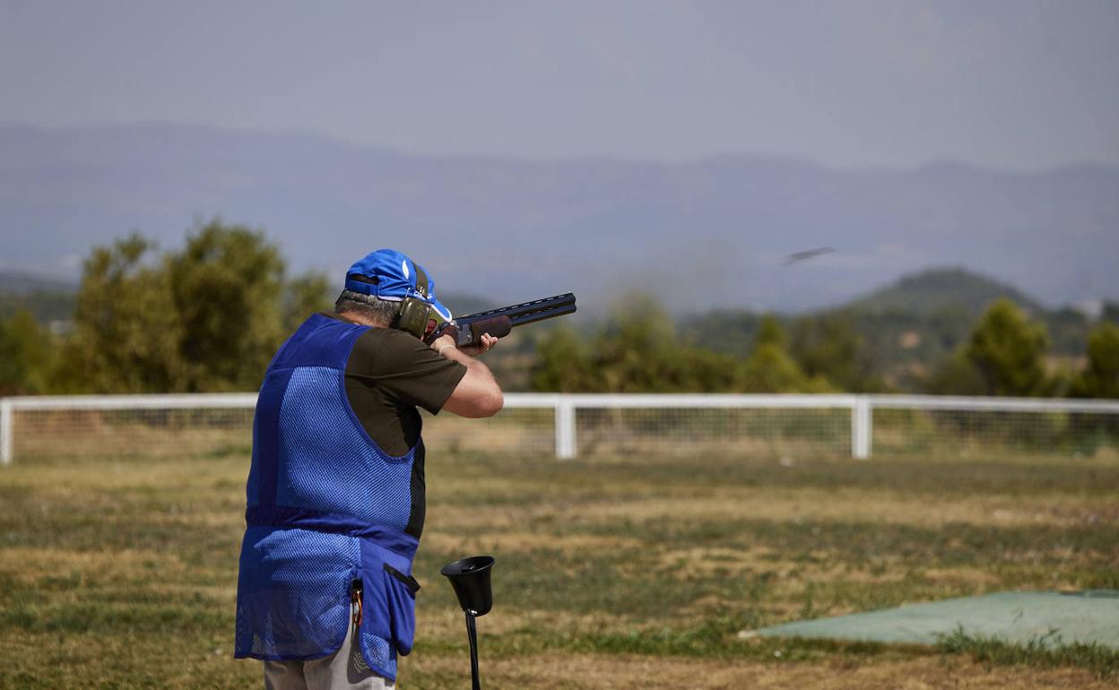
[[[1049,305],[1119,296],[1117,167],[529,161],[161,124],[0,126],[0,268],[75,280],[95,244],[138,229],[175,246],[213,216],[264,228],[295,270],[340,274],[393,246],[441,289],[497,303],[571,290],[592,313],[632,289],[677,311],[807,310],[943,265]],[[784,265],[822,246],[835,252]]]

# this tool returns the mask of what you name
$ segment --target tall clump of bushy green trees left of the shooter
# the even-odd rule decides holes
[[[251,390],[283,338],[284,262],[262,233],[211,221],[157,256],[133,233],[85,261],[58,390]],[[307,289],[305,284],[301,291]],[[300,297],[302,299],[302,297]]]

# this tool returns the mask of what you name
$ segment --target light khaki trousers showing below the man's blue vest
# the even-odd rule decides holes
[[[311,661],[265,661],[265,690],[394,690],[394,683],[373,672],[354,640],[354,625],[342,646]]]

